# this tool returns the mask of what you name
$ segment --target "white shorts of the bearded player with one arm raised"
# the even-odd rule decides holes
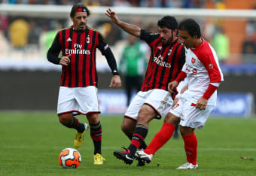
[[[163,111],[172,105],[172,96],[166,90],[148,90],[147,92],[139,91],[130,103],[129,107],[124,114],[125,117],[137,120],[139,110],[142,105],[146,104],[151,106],[157,112],[157,119],[163,115]]]

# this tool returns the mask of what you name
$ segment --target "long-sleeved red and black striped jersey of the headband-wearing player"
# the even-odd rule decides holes
[[[69,65],[62,65],[60,86],[98,86],[96,48],[99,48],[106,58],[110,56],[114,58],[108,44],[105,43],[105,39],[95,29],[90,29],[87,26],[84,31],[76,31],[73,27],[70,27],[57,33],[48,53],[54,53],[55,56],[59,56],[59,53],[62,52],[62,56],[69,56],[70,59]],[[50,55],[48,55],[48,60],[52,62],[49,59]],[[111,59],[112,61],[113,59]],[[113,67],[111,69],[114,68],[112,70],[117,72],[115,59],[112,64]],[[110,65],[109,60],[108,65]]]

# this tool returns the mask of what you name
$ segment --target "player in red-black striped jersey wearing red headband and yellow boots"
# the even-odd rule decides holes
[[[98,76],[96,73],[96,48],[108,61],[113,77],[111,87],[120,87],[117,63],[102,35],[87,26],[88,8],[78,3],[72,7],[73,25],[59,31],[48,50],[47,59],[62,65],[57,114],[62,125],[76,129],[74,146],[80,147],[87,131],[87,123],[80,123],[74,116],[84,114],[90,124],[90,136],[94,144],[94,164],[101,165],[102,126],[99,121],[97,99]],[[59,53],[62,56],[59,58]]]

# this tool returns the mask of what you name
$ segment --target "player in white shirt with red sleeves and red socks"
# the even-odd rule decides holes
[[[179,37],[186,47],[186,62],[178,77],[169,83],[168,90],[178,86],[187,77],[188,90],[181,94],[177,105],[166,115],[157,135],[145,150],[139,150],[139,159],[151,162],[154,153],[165,144],[180,122],[187,162],[178,168],[198,168],[197,137],[194,129],[201,129],[216,105],[217,88],[223,81],[218,58],[212,46],[201,37],[200,26],[192,19],[181,21]]]

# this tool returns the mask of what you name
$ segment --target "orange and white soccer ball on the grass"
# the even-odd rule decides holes
[[[59,153],[59,165],[62,168],[78,168],[81,163],[81,155],[74,148],[66,148]]]

